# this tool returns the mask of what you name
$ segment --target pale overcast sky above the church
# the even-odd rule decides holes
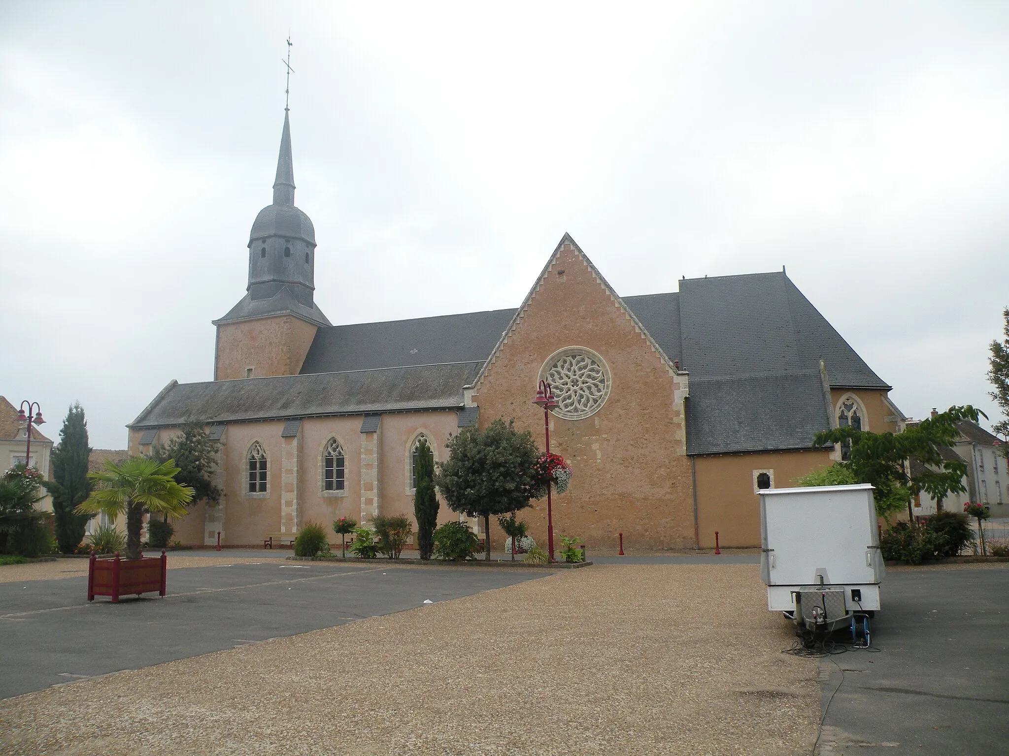
[[[334,324],[517,306],[565,231],[622,295],[780,270],[914,417],[993,419],[1009,4],[0,2],[0,394],[92,446],[212,379],[271,202]]]

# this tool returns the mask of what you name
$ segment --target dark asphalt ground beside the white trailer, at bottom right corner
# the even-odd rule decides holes
[[[1009,569],[891,570],[883,589],[881,652],[821,664],[819,752],[1009,754]]]

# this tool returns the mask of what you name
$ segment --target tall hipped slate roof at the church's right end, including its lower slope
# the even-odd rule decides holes
[[[831,387],[890,388],[784,271],[682,280],[679,316],[687,454],[808,449],[830,426],[821,359]]]

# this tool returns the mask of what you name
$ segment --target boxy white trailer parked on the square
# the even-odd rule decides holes
[[[871,485],[766,489],[760,521],[768,609],[827,629],[854,629],[857,616],[880,609],[885,568]]]

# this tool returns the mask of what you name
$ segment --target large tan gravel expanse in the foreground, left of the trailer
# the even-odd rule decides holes
[[[750,564],[565,572],[8,699],[0,753],[809,753],[816,661],[765,597]]]

